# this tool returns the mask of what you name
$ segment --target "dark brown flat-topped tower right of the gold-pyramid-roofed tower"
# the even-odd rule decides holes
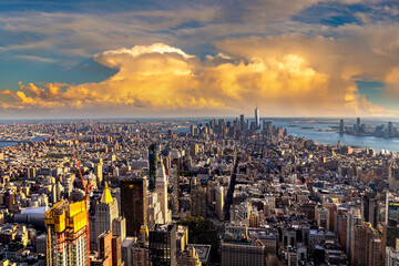
[[[121,211],[126,218],[126,235],[136,236],[147,223],[146,177],[121,180]]]

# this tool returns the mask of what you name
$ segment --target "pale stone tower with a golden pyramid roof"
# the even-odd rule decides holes
[[[108,183],[105,183],[100,202],[95,205],[95,234],[94,239],[91,241],[91,244],[96,243],[98,237],[102,233],[112,231],[112,223],[117,216],[119,212],[116,198],[112,197]],[[96,249],[95,246],[92,248]]]

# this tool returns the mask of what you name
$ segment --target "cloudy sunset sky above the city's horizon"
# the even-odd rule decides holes
[[[396,1],[0,1],[0,119],[397,116]]]

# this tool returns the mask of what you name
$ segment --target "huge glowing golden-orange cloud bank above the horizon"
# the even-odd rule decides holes
[[[307,41],[306,41],[307,40]],[[163,43],[109,50],[94,60],[117,73],[99,83],[21,84],[4,109],[219,110],[260,106],[270,115],[391,114],[357,93],[351,65],[340,70],[341,44],[305,35],[249,38],[216,43],[201,60]],[[323,47],[315,51],[315,45]],[[324,52],[328,61],[317,60]],[[330,54],[328,54],[328,51]],[[332,53],[334,52],[334,53]]]

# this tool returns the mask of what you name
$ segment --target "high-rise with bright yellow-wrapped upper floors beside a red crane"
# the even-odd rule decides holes
[[[85,203],[61,201],[45,212],[47,265],[89,266]]]

